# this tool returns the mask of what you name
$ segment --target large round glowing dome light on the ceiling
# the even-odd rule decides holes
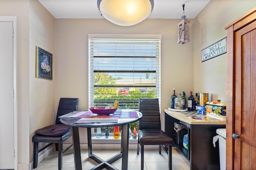
[[[108,21],[130,26],[148,18],[154,8],[154,0],[97,0],[97,6]]]

